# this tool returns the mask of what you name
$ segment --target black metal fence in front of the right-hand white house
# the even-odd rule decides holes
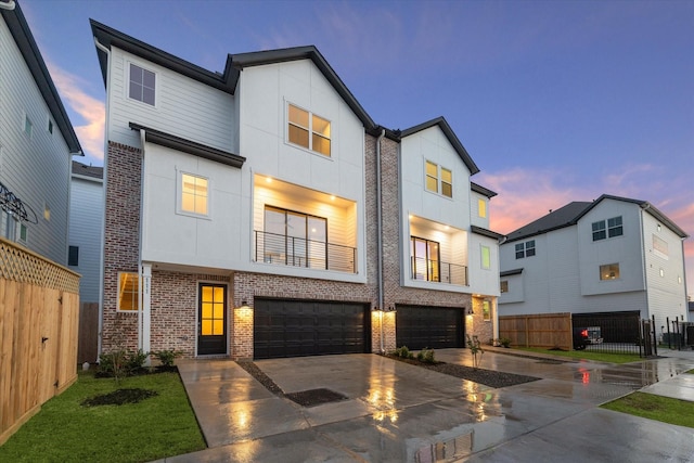
[[[657,355],[654,321],[642,320],[639,312],[574,313],[574,330],[588,333],[587,351]]]

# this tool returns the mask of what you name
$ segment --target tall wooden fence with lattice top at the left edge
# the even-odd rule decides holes
[[[0,239],[0,445],[77,380],[79,274]]]

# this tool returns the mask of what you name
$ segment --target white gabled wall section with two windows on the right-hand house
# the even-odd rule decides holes
[[[593,241],[592,223],[622,218],[621,236]],[[603,200],[578,222],[579,266],[582,295],[644,291],[644,261],[640,207],[624,201]],[[601,280],[600,266],[618,263],[619,278]]]

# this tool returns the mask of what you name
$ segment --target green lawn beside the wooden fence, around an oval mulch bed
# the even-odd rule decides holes
[[[120,388],[156,397],[123,406],[83,407]],[[0,462],[146,462],[205,448],[177,373],[113,378],[79,374],[77,383],[41,407],[3,446]]]

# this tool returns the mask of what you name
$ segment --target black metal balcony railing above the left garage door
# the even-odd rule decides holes
[[[256,262],[357,273],[357,248],[255,231]]]

